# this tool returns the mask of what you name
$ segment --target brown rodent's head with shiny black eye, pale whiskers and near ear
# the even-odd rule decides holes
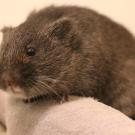
[[[60,85],[63,90],[68,87],[68,73],[72,76],[72,61],[79,44],[67,18],[40,25],[26,21],[16,28],[5,28],[0,50],[0,87],[26,99],[58,94]]]

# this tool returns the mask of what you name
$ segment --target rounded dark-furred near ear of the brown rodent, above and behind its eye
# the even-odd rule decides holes
[[[51,24],[49,36],[64,39],[72,29],[72,22],[68,18],[62,18]]]

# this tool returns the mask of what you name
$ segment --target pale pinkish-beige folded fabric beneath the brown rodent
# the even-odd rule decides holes
[[[92,98],[69,99],[25,104],[6,95],[7,129],[0,135],[135,135],[135,122],[121,112]]]

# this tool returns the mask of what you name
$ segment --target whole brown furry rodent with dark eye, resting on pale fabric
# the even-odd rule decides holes
[[[4,28],[0,74],[15,98],[94,97],[135,115],[135,38],[91,9],[49,6]]]

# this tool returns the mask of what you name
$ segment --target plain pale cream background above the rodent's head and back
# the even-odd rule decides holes
[[[135,0],[0,0],[0,28],[16,26],[33,9],[51,4],[90,7],[122,23],[135,33]]]

